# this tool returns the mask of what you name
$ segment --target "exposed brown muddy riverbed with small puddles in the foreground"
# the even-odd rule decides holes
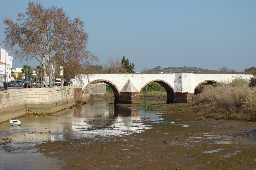
[[[256,169],[255,121],[202,119],[170,108],[159,111],[161,121],[138,120],[153,126],[142,133],[47,142],[36,148],[64,160],[65,169]]]

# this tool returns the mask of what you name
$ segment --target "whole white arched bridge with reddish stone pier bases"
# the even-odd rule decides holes
[[[195,89],[202,83],[231,82],[234,79],[250,79],[252,74],[198,74],[198,73],[152,73],[152,74],[88,74],[77,75],[73,85],[82,89],[94,82],[109,85],[115,101],[137,103],[141,90],[151,82],[161,84],[167,92],[167,103],[192,100]],[[79,77],[79,78],[78,78]]]

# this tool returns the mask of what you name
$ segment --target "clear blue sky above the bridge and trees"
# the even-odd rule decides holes
[[[4,18],[17,19],[29,1],[0,0],[0,41]],[[198,67],[242,71],[256,67],[255,0],[44,0],[80,17],[89,34],[88,50],[104,65],[108,57],[128,57],[135,71],[145,67]],[[4,44],[2,44],[4,48]],[[26,61],[15,59],[13,68]],[[36,67],[38,61],[29,61]]]

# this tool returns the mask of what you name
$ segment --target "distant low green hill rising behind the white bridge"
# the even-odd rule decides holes
[[[219,71],[216,70],[208,70],[208,69],[202,69],[197,67],[160,67],[157,66],[153,69],[149,69],[146,72],[147,73],[158,73],[158,71],[161,73],[174,73],[174,72],[185,72],[185,73],[219,73]]]

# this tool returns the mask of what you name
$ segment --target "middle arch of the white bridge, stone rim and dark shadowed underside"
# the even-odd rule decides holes
[[[166,82],[164,80],[151,80],[151,81],[147,82],[144,86],[142,86],[139,93],[141,93],[141,91],[143,90],[144,87],[146,87],[146,85],[148,85],[149,83],[152,83],[152,82],[156,82],[156,83],[159,83],[160,85],[162,85],[164,87],[164,89],[166,90],[166,93],[167,93],[166,103],[173,103],[173,101],[174,101],[174,89],[168,82]]]

